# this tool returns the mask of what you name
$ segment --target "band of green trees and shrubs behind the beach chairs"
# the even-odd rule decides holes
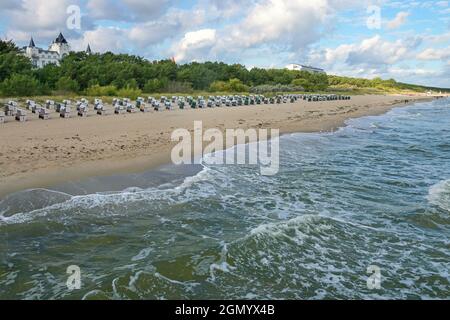
[[[397,86],[395,80],[366,80],[286,69],[248,70],[240,64],[192,62],[114,54],[71,52],[60,65],[33,68],[12,41],[0,41],[0,94],[35,96],[87,94],[137,96],[145,93],[326,91],[330,86]]]

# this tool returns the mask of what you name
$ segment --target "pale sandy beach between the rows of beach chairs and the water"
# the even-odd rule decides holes
[[[177,128],[274,128],[280,133],[331,131],[345,120],[384,113],[425,96],[354,96],[350,101],[186,109],[99,116],[75,115],[0,125],[0,197],[89,176],[140,172],[170,162]]]

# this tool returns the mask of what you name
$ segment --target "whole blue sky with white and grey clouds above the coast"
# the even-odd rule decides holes
[[[80,12],[79,28],[76,19]],[[69,23],[68,23],[69,21]],[[450,1],[1,0],[0,36],[178,63],[288,63],[450,87]]]

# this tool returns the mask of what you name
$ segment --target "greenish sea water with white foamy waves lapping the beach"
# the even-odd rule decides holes
[[[449,100],[285,135],[280,153],[275,176],[203,165],[6,197],[0,298],[450,298]]]

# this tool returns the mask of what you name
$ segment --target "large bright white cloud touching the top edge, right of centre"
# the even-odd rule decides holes
[[[227,2],[234,2],[228,0]],[[253,1],[248,10],[241,11],[240,21],[217,31],[217,41],[204,55],[194,59],[219,57],[235,61],[236,56],[271,47],[276,51],[300,54],[318,42],[334,25],[339,10],[362,7],[365,1],[356,0],[264,0]]]

